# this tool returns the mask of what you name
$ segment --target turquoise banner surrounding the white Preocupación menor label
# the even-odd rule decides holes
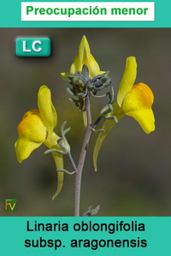
[[[0,27],[171,27],[170,21],[170,5],[168,0],[156,0],[156,1],[97,1],[97,3],[155,3],[155,21],[21,21],[21,3],[44,3],[48,1],[21,1],[21,0],[9,0],[1,3],[1,16]],[[50,1],[50,3],[77,3],[80,2],[93,4],[95,1]],[[29,4],[30,5],[30,4]],[[39,4],[41,9],[41,4]],[[60,5],[57,5],[60,8]],[[50,9],[48,10],[50,12]],[[58,10],[57,10],[58,11]],[[93,11],[93,10],[92,10]],[[73,10],[72,10],[73,12]],[[98,12],[98,7],[95,7],[95,14]],[[44,9],[41,9],[40,13],[44,15]],[[49,13],[50,14],[50,13]],[[140,13],[139,13],[140,14]],[[58,13],[57,13],[58,15]],[[79,14],[80,16],[81,14]],[[84,15],[84,13],[82,13]],[[127,15],[127,9],[124,10],[124,15]],[[85,20],[85,21],[84,21]],[[98,19],[97,19],[98,20]]]

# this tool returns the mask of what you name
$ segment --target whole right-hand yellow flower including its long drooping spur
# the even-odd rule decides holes
[[[153,92],[144,83],[135,86],[137,76],[137,63],[135,57],[128,57],[126,68],[121,79],[117,102],[113,104],[113,110],[108,116],[116,116],[120,121],[125,115],[132,116],[146,134],[155,130],[155,117],[151,106],[154,101]],[[103,140],[115,126],[115,120],[106,120],[103,124],[104,133],[99,134],[93,153],[93,163],[97,170],[97,155],[102,146]]]

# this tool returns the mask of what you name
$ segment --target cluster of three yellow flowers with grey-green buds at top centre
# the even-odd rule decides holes
[[[79,53],[74,58],[69,72],[62,73],[62,79],[68,80],[72,88],[68,91],[78,99],[74,103],[84,110],[84,99],[87,93],[96,95],[103,88],[110,86],[109,72],[100,70],[98,63],[91,55],[90,47],[85,36],[81,39]],[[150,87],[144,83],[134,85],[137,76],[137,63],[135,57],[127,57],[126,68],[121,79],[117,100],[112,100],[111,110],[106,113],[106,121],[103,123],[103,133],[97,138],[94,149],[93,162],[97,170],[97,155],[103,140],[113,128],[116,121],[120,121],[125,115],[133,117],[146,134],[155,130],[155,118],[151,106],[154,96]],[[115,117],[115,118],[113,118]],[[41,86],[38,91],[38,109],[27,111],[18,126],[19,139],[15,142],[15,152],[21,163],[28,158],[32,151],[43,143],[51,151],[55,159],[56,169],[63,170],[62,148],[58,141],[60,137],[54,132],[57,124],[57,115],[51,101],[50,89]],[[63,172],[58,171],[58,187],[53,199],[62,190]]]

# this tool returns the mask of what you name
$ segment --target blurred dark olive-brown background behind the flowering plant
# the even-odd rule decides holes
[[[72,130],[68,141],[78,162],[84,127],[80,112],[68,101],[68,83],[60,73],[69,70],[83,35],[101,70],[109,70],[115,94],[126,58],[138,62],[136,82],[155,94],[156,131],[144,134],[133,118],[125,116],[110,132],[93,170],[92,134],[82,177],[81,212],[100,205],[98,216],[170,216],[171,214],[171,29],[165,28],[1,28],[0,29],[0,215],[73,216],[74,176],[65,176],[55,199],[56,169],[43,145],[22,164],[15,158],[16,128],[27,110],[37,108],[39,86],[50,87],[62,122]],[[50,37],[50,57],[16,57],[16,37]],[[92,116],[108,99],[92,100]],[[100,128],[100,127],[99,127]],[[71,170],[68,158],[65,167]],[[18,199],[18,211],[4,211],[4,199]]]

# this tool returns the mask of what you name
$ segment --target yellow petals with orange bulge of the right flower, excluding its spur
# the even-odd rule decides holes
[[[132,116],[139,122],[146,134],[150,134],[155,130],[155,118],[151,110],[154,95],[150,87],[144,83],[133,86],[136,76],[136,59],[135,57],[128,57],[117,95],[117,103],[127,116]]]

